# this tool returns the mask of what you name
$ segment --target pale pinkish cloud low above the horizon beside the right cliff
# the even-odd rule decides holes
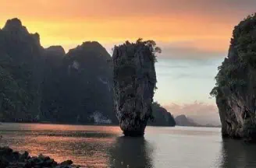
[[[192,118],[198,124],[214,124],[219,125],[218,108],[214,104],[209,103],[169,103],[164,107],[174,116],[185,114]]]

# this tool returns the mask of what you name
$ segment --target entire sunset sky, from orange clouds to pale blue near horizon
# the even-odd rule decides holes
[[[111,54],[125,40],[155,40],[155,100],[172,114],[218,117],[217,67],[227,56],[233,27],[256,12],[255,0],[0,0],[0,23],[18,17],[44,47],[66,52],[97,40]],[[214,119],[215,120],[215,119]]]

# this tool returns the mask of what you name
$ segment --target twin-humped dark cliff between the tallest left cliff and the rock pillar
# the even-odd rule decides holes
[[[46,120],[118,123],[113,112],[111,57],[101,44],[84,42],[67,54],[62,47],[49,47],[45,60],[42,111]]]

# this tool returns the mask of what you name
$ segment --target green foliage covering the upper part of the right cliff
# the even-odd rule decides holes
[[[235,26],[231,39],[229,56],[219,66],[216,84],[210,93],[218,96],[225,89],[243,90],[248,79],[253,78],[251,70],[256,68],[256,14],[248,16]]]

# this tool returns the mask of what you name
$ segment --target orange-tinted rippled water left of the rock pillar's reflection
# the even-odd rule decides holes
[[[108,150],[120,133],[108,126],[6,124],[2,128],[4,144],[13,149],[27,150],[32,156],[42,153],[57,162],[72,159],[87,167],[107,167]]]

